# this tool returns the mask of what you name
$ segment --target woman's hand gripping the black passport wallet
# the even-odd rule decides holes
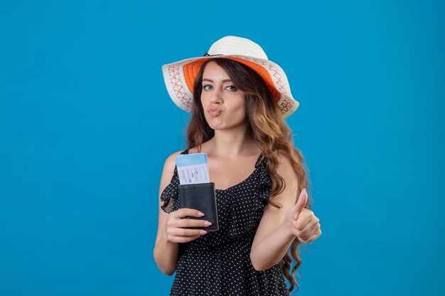
[[[166,226],[163,228],[163,236],[172,243],[188,243],[207,234],[203,229],[185,229],[183,227],[208,227],[212,225],[209,221],[198,219],[185,219],[185,216],[204,216],[196,209],[178,209],[168,214]]]

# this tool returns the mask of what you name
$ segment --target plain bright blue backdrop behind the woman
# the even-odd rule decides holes
[[[301,103],[321,237],[297,295],[444,295],[443,1],[1,1],[0,295],[168,295],[161,65],[250,38]]]

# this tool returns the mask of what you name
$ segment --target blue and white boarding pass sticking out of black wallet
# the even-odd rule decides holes
[[[179,184],[210,182],[207,153],[178,154],[175,158]]]

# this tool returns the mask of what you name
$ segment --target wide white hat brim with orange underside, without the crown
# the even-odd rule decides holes
[[[193,57],[162,66],[163,78],[168,94],[176,106],[184,111],[191,111],[195,77],[198,75],[203,63],[210,58],[235,60],[257,72],[277,100],[284,118],[293,114],[299,107],[299,102],[291,94],[286,74],[276,63],[245,55],[216,55]]]

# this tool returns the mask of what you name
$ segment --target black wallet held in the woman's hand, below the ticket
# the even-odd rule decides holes
[[[215,183],[178,185],[179,207],[197,209],[205,216],[186,216],[190,219],[206,220],[212,222],[208,227],[186,227],[188,229],[204,229],[205,231],[218,231],[218,209],[216,208]]]

